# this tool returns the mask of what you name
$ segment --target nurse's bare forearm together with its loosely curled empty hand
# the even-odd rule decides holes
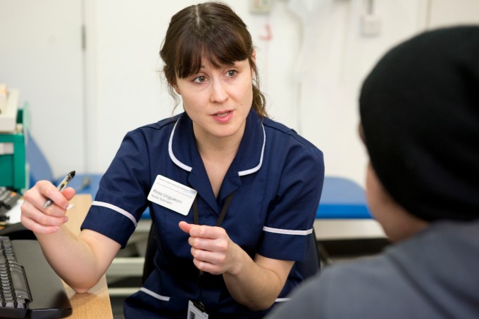
[[[180,221],[189,234],[194,265],[201,271],[223,275],[233,299],[251,310],[270,308],[285,286],[294,261],[271,259],[256,253],[254,259],[220,227]]]

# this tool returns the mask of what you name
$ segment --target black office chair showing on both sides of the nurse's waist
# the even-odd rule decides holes
[[[151,228],[148,235],[148,244],[147,252],[144,256],[144,266],[143,266],[143,276],[142,282],[147,280],[149,274],[154,271],[154,256],[156,249],[158,247],[156,241],[156,226],[153,220],[151,220]],[[304,261],[297,261],[296,267],[297,271],[301,273],[304,279],[311,277],[312,275],[318,273],[321,270],[321,265],[326,261],[326,259],[321,258],[320,247],[318,247],[318,241],[316,240],[316,234],[309,234],[309,240],[311,240],[311,245],[309,245],[309,257]]]

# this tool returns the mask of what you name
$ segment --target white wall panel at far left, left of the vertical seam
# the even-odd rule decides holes
[[[0,82],[30,106],[56,176],[85,170],[81,0],[0,0]]]

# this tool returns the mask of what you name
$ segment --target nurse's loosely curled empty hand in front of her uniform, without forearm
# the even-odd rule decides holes
[[[224,228],[194,225],[186,221],[178,224],[181,230],[189,234],[193,263],[201,271],[213,275],[235,273],[235,256],[239,248]]]

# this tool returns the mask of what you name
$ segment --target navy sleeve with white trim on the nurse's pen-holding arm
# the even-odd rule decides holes
[[[125,247],[147,207],[148,148],[142,131],[129,132],[101,178],[82,229],[106,235]]]

